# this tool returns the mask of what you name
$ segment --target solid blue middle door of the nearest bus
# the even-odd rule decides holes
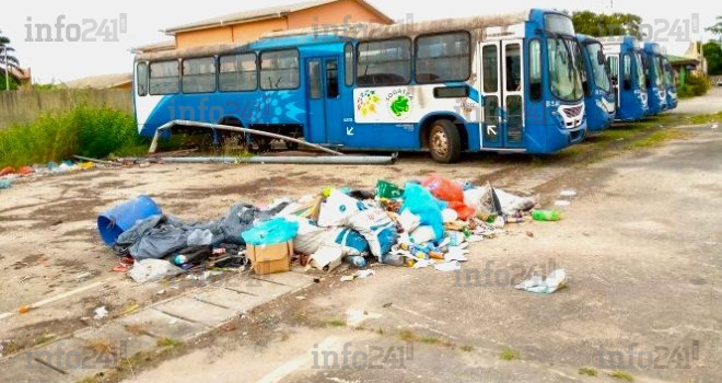
[[[342,143],[338,57],[306,59],[308,134],[311,142]]]

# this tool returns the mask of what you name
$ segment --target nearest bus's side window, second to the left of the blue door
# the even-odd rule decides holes
[[[256,54],[221,56],[218,88],[221,92],[255,91],[258,88]]]

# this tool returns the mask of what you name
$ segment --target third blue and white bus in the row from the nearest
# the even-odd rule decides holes
[[[617,89],[617,120],[639,120],[649,111],[642,53],[632,36],[599,37],[607,70]]]

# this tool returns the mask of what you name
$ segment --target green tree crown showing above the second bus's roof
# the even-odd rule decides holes
[[[631,13],[594,13],[590,11],[574,12],[571,15],[574,31],[590,36],[631,35],[642,38],[639,26],[642,18]]]

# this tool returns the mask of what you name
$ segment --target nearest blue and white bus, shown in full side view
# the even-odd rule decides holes
[[[554,153],[586,131],[582,54],[557,11],[286,31],[135,61],[143,136],[186,119],[449,163]]]

